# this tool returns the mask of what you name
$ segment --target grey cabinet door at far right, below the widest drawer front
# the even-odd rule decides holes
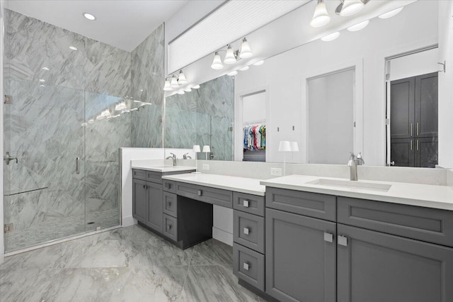
[[[337,232],[338,302],[453,301],[452,248],[341,224]]]

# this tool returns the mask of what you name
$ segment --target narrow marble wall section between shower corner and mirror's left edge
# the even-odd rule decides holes
[[[162,147],[162,106],[164,105],[165,40],[164,24],[131,52],[129,95],[151,106],[132,113],[131,147]]]

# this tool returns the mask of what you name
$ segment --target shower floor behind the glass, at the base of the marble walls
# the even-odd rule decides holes
[[[6,233],[4,237],[5,250],[6,252],[13,252],[51,240],[91,232],[96,230],[98,226],[110,228],[116,225],[120,225],[119,208],[92,211],[86,213],[86,216],[49,218],[45,222],[36,223],[30,228]]]

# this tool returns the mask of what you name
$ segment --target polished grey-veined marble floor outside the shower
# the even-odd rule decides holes
[[[232,247],[180,250],[139,225],[6,257],[0,301],[263,301],[237,284]]]

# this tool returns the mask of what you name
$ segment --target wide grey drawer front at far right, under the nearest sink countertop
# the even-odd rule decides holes
[[[338,223],[453,247],[453,212],[338,196]]]

